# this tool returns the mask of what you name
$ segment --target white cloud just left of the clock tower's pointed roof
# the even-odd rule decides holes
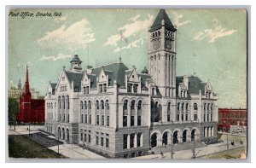
[[[125,38],[130,38],[131,36],[136,37],[138,33],[148,30],[148,27],[151,26],[154,21],[154,15],[148,14],[148,17],[146,19],[142,19],[141,15],[137,14],[134,17],[128,19],[128,21],[129,23],[125,26],[119,27],[118,31],[122,31]],[[109,37],[107,42],[104,43],[104,46],[111,45],[116,47],[119,40],[120,34],[118,33]]]

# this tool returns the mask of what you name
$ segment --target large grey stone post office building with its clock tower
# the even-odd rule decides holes
[[[82,69],[79,55],[45,96],[45,130],[110,157],[217,140],[218,97],[196,76],[176,76],[177,29],[160,9],[148,31],[148,69],[121,61]]]

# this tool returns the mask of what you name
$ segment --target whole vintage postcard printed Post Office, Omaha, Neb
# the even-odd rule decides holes
[[[247,159],[246,9],[9,9],[9,159]]]

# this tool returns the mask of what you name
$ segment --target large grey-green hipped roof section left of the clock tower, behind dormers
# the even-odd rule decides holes
[[[113,86],[113,81],[116,80],[118,86],[125,85],[125,71],[128,67],[125,66],[123,62],[114,62],[112,64],[108,64],[102,66],[106,74],[108,74],[108,85]],[[91,88],[96,88],[96,77],[99,76],[102,67],[96,67],[92,69],[92,74],[95,74],[95,78],[90,75],[90,80],[92,82]],[[92,78],[91,78],[92,77]]]

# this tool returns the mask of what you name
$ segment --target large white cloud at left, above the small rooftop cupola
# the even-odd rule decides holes
[[[67,48],[70,50],[83,49],[88,43],[95,40],[88,20],[80,20],[71,26],[62,25],[52,32],[46,32],[43,38],[38,39],[39,45],[45,48]]]

